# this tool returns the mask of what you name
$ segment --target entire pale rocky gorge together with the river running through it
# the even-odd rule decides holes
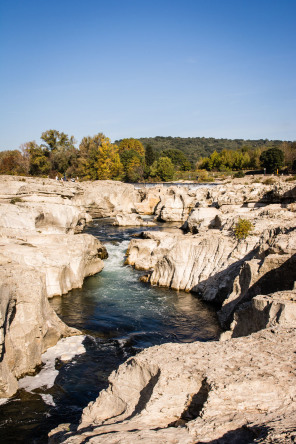
[[[72,396],[89,365],[91,402],[50,443],[293,442],[296,184],[263,182],[2,176],[0,408],[61,339],[57,367],[84,353]]]

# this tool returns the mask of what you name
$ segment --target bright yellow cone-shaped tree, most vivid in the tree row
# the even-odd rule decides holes
[[[110,139],[104,138],[98,148],[98,160],[96,162],[99,180],[115,179],[123,177],[123,166],[120,162],[117,145],[113,145]]]

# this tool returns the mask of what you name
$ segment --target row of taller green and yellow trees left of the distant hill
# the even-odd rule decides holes
[[[167,181],[191,164],[177,149],[156,152],[134,138],[111,143],[103,133],[84,137],[76,148],[73,136],[57,130],[41,134],[42,143],[0,152],[0,174],[68,177],[80,180]]]

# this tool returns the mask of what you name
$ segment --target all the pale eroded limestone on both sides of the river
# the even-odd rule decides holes
[[[108,216],[147,227],[127,254],[128,264],[148,272],[143,279],[196,292],[217,307],[225,331],[220,341],[165,344],[130,358],[78,429],[61,425],[50,442],[293,442],[295,185],[276,178],[271,185],[136,190],[1,177],[0,396],[15,392],[46,348],[78,333],[47,299],[102,269],[105,248],[75,233],[91,217]],[[153,214],[182,229],[149,232],[141,215]],[[233,236],[239,218],[252,223],[246,239]]]

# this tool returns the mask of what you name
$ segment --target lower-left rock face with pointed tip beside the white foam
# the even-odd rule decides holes
[[[41,364],[48,347],[78,331],[50,307],[44,273],[1,256],[0,282],[0,398],[5,398],[17,391],[17,379]]]

